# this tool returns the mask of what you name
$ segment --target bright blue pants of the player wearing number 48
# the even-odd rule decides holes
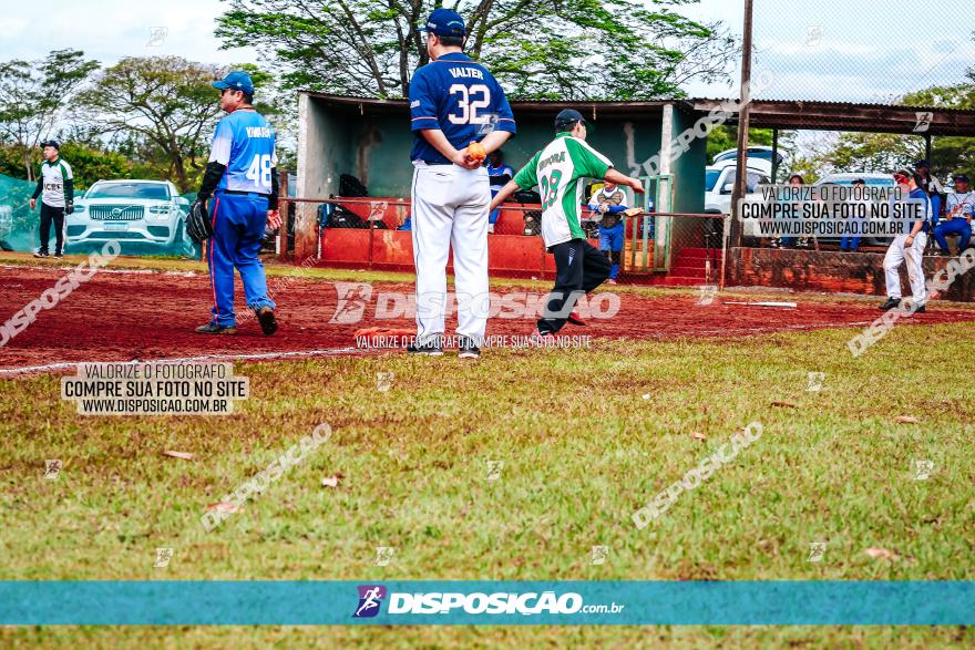
[[[213,287],[213,322],[236,324],[234,314],[234,269],[244,282],[244,297],[252,309],[275,308],[267,297],[264,265],[258,259],[260,238],[267,224],[267,198],[256,194],[236,195],[217,192],[209,202],[214,236],[209,240],[207,262]]]

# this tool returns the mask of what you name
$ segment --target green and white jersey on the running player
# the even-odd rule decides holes
[[[545,247],[584,239],[583,179],[603,178],[613,163],[585,141],[560,133],[521,168],[514,182],[522,189],[538,186],[542,195],[542,239]]]

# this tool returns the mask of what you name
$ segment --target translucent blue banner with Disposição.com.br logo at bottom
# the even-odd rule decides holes
[[[0,625],[975,625],[975,581],[0,581]]]

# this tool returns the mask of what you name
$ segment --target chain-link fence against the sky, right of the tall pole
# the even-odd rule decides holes
[[[916,104],[930,89],[971,83],[975,6],[753,0],[752,78],[762,100]]]

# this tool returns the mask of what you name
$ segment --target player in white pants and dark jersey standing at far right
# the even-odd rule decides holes
[[[905,171],[894,175],[897,184],[910,190],[907,198],[923,202],[924,218],[914,221],[911,231],[897,235],[887,248],[884,256],[884,276],[887,286],[886,302],[880,309],[887,311],[901,305],[901,274],[902,262],[907,262],[907,280],[911,283],[911,308],[913,312],[923,312],[924,303],[927,302],[927,291],[924,286],[924,248],[927,246],[927,229],[931,218],[931,199],[927,193],[921,189],[921,176],[914,172]]]

